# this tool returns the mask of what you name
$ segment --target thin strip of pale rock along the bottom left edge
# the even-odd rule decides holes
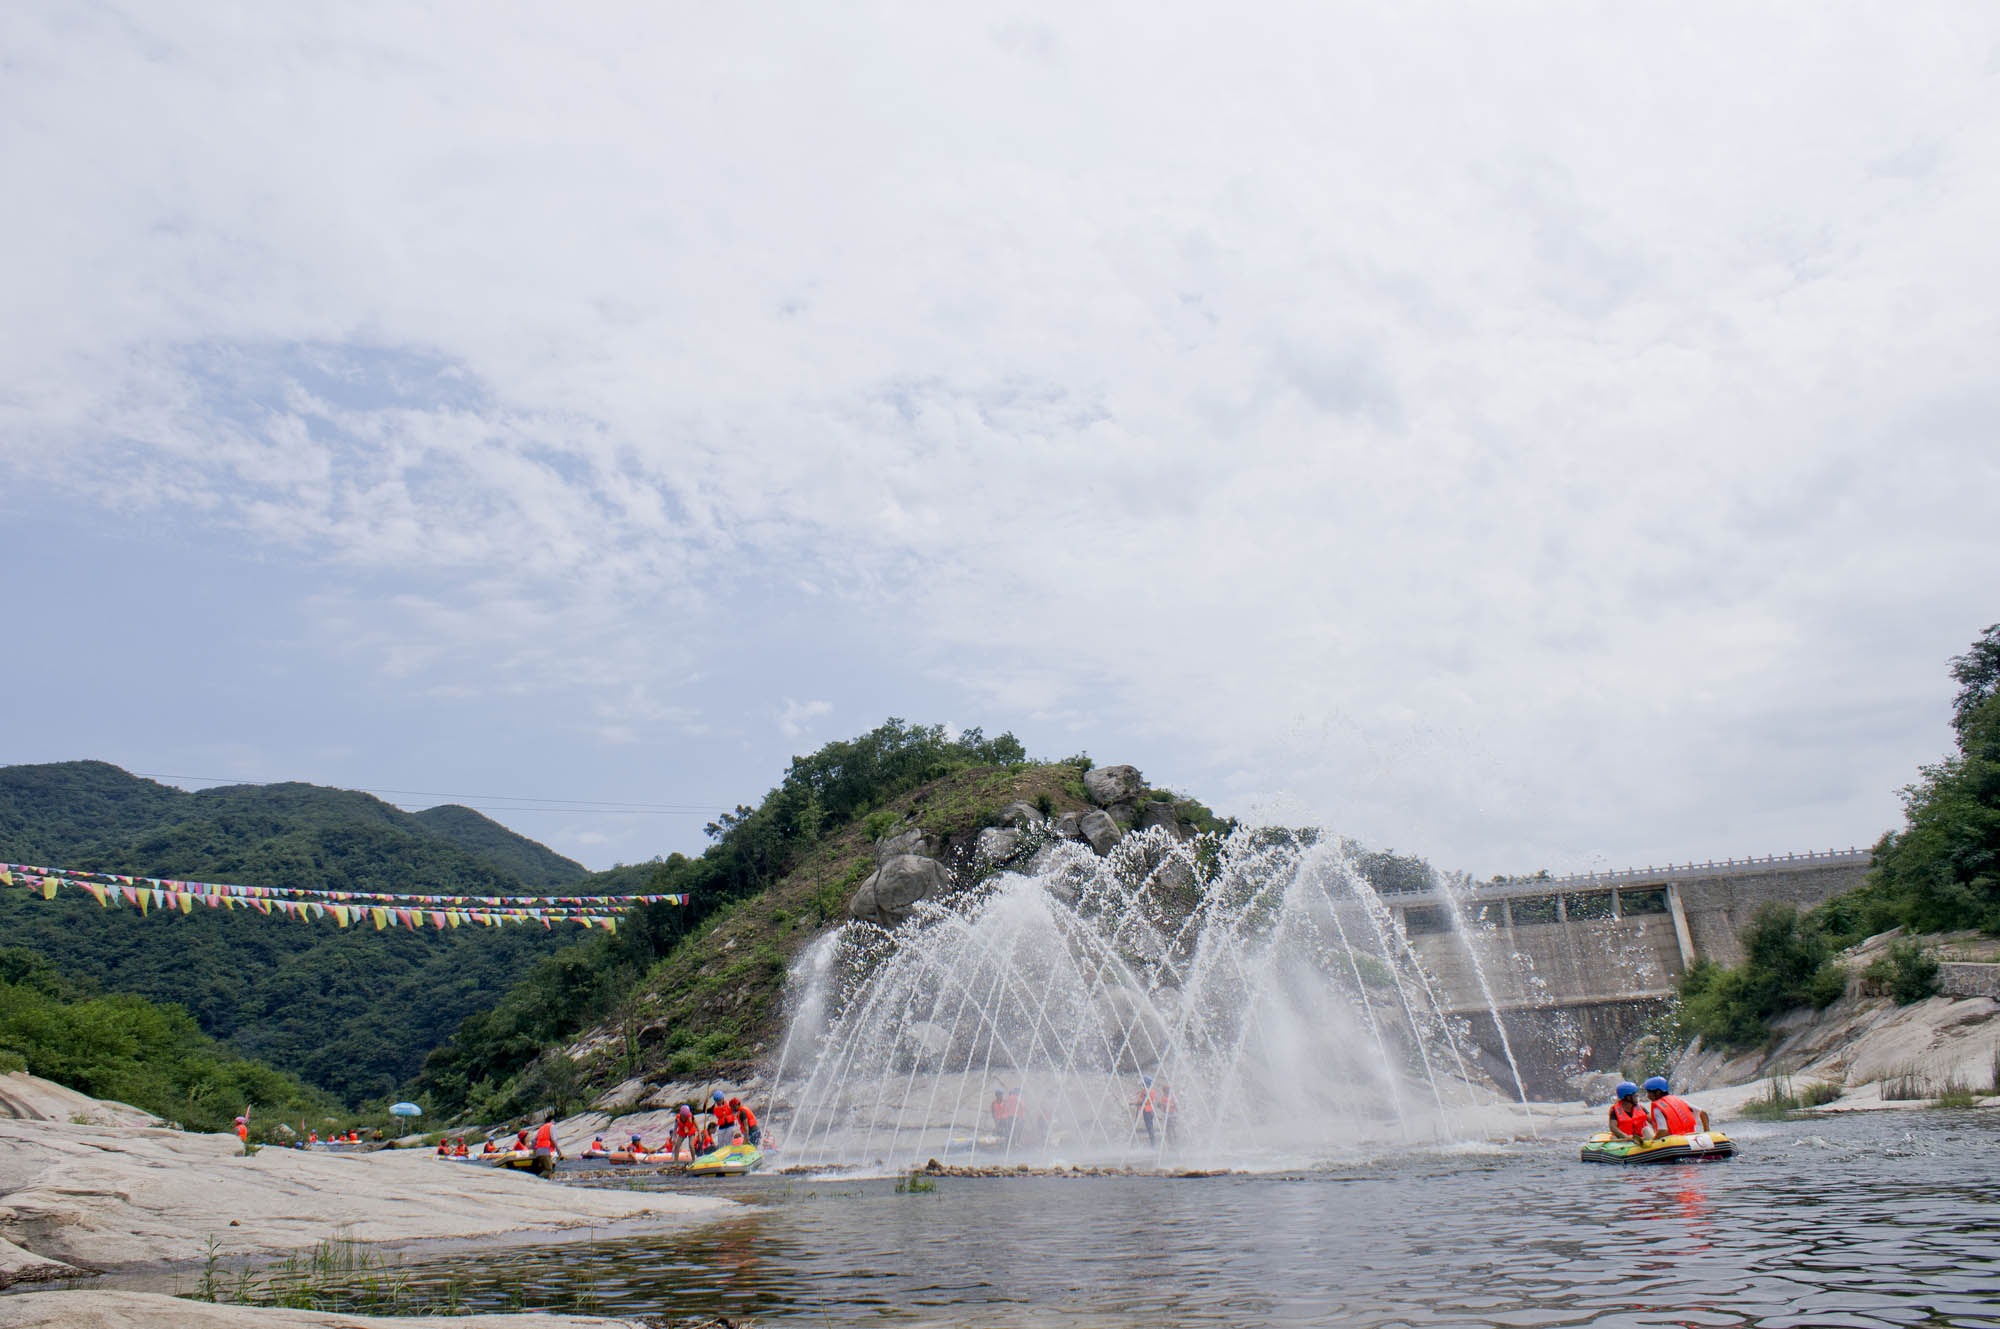
[[[632,1319],[600,1315],[454,1315],[402,1319],[280,1307],[210,1305],[160,1293],[30,1293],[0,1297],[0,1329],[638,1329]]]

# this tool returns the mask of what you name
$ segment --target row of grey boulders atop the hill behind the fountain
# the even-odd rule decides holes
[[[948,863],[982,873],[1020,867],[1052,841],[1088,845],[1102,857],[1132,831],[1154,827],[1164,827],[1182,841],[1194,837],[1194,827],[1180,819],[1172,803],[1148,797],[1136,767],[1086,771],[1084,793],[1096,807],[1054,819],[1032,803],[1010,803],[1000,811],[998,825],[984,827],[970,845],[954,845],[914,825],[882,837],[876,843],[876,871],[854,891],[848,913],[866,923],[896,927],[920,901],[950,891]]]

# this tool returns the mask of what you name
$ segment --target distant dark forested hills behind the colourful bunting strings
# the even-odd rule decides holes
[[[0,859],[300,889],[550,895],[576,863],[470,809],[410,815],[316,785],[186,793],[100,761],[0,767]],[[66,975],[182,1003],[210,1037],[358,1103],[578,929],[340,931],[254,913],[138,917],[0,887],[0,937]]]

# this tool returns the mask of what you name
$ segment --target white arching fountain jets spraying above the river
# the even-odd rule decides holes
[[[792,1009],[802,1165],[1292,1165],[1494,1099],[1352,855],[1292,833],[1052,843],[820,939]]]

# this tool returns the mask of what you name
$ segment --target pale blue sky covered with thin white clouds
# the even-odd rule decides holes
[[[0,126],[0,763],[1592,871],[1872,843],[2000,620],[1984,0],[18,0]]]

